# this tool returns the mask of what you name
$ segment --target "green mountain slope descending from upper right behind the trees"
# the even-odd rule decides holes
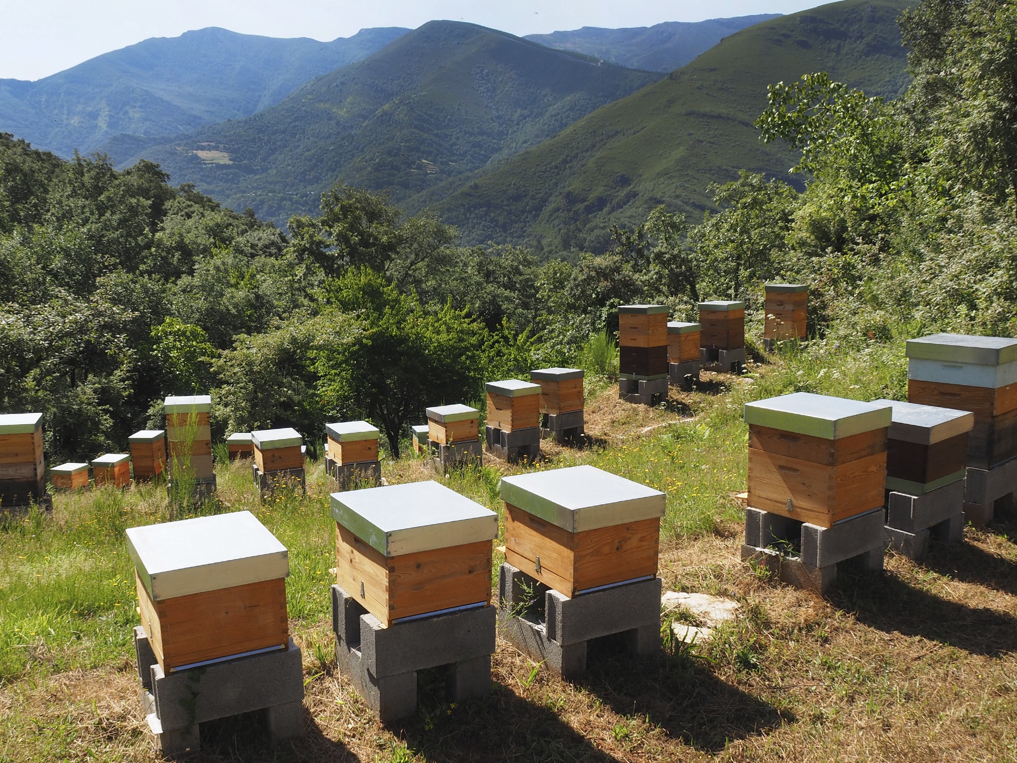
[[[827,71],[871,95],[908,81],[896,16],[904,0],[845,0],[739,32],[665,79],[615,101],[460,188],[407,200],[431,206],[468,241],[601,250],[611,223],[636,225],[657,204],[710,206],[707,185],[739,169],[783,175],[794,160],[764,145],[753,121],[767,85]]]

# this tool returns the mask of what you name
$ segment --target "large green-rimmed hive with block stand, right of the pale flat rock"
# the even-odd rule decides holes
[[[819,591],[841,562],[882,569],[890,406],[794,393],[747,403],[744,416],[742,557]]]

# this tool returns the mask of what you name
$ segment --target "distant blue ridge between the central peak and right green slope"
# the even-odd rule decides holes
[[[647,71],[673,71],[701,53],[706,53],[728,35],[777,18],[780,13],[761,13],[705,21],[665,21],[653,26],[605,30],[584,26],[550,35],[527,35],[527,40],[548,48],[586,53],[588,56]]]

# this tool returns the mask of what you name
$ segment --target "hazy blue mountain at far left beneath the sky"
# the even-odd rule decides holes
[[[0,79],[0,132],[64,157],[120,133],[175,135],[273,106],[408,31],[361,30],[331,43],[214,26],[153,38],[34,82]]]

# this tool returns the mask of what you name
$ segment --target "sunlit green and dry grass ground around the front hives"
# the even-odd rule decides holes
[[[936,545],[919,563],[890,554],[883,576],[848,578],[826,598],[739,561],[731,493],[744,485],[740,404],[799,389],[822,363],[832,370],[815,383],[820,392],[872,398],[900,389],[899,348],[870,347],[864,362],[840,359],[854,349],[815,343],[741,378],[705,374],[703,391],[672,393],[657,409],[594,388],[591,446],[544,443],[547,461],[533,468],[590,463],[667,491],[665,586],[741,604],[711,641],[671,641],[660,657],[639,660],[619,656],[610,640],[594,643],[590,672],[566,683],[499,639],[488,698],[453,706],[440,674],[422,674],[420,711],[392,726],[374,720],[336,671],[321,464],[309,467],[306,496],[267,504],[246,463],[221,465],[219,503],[205,511],[248,509],[290,549],[308,735],[274,746],[241,716],[203,726],[199,758],[1017,760],[1017,525],[967,528],[963,545]],[[517,470],[490,461],[441,479],[498,509],[498,478]],[[433,476],[409,457],[385,463],[383,473],[390,482]],[[0,760],[157,757],[137,702],[123,529],[168,512],[159,487],[63,493],[52,519],[29,513],[0,528]]]

